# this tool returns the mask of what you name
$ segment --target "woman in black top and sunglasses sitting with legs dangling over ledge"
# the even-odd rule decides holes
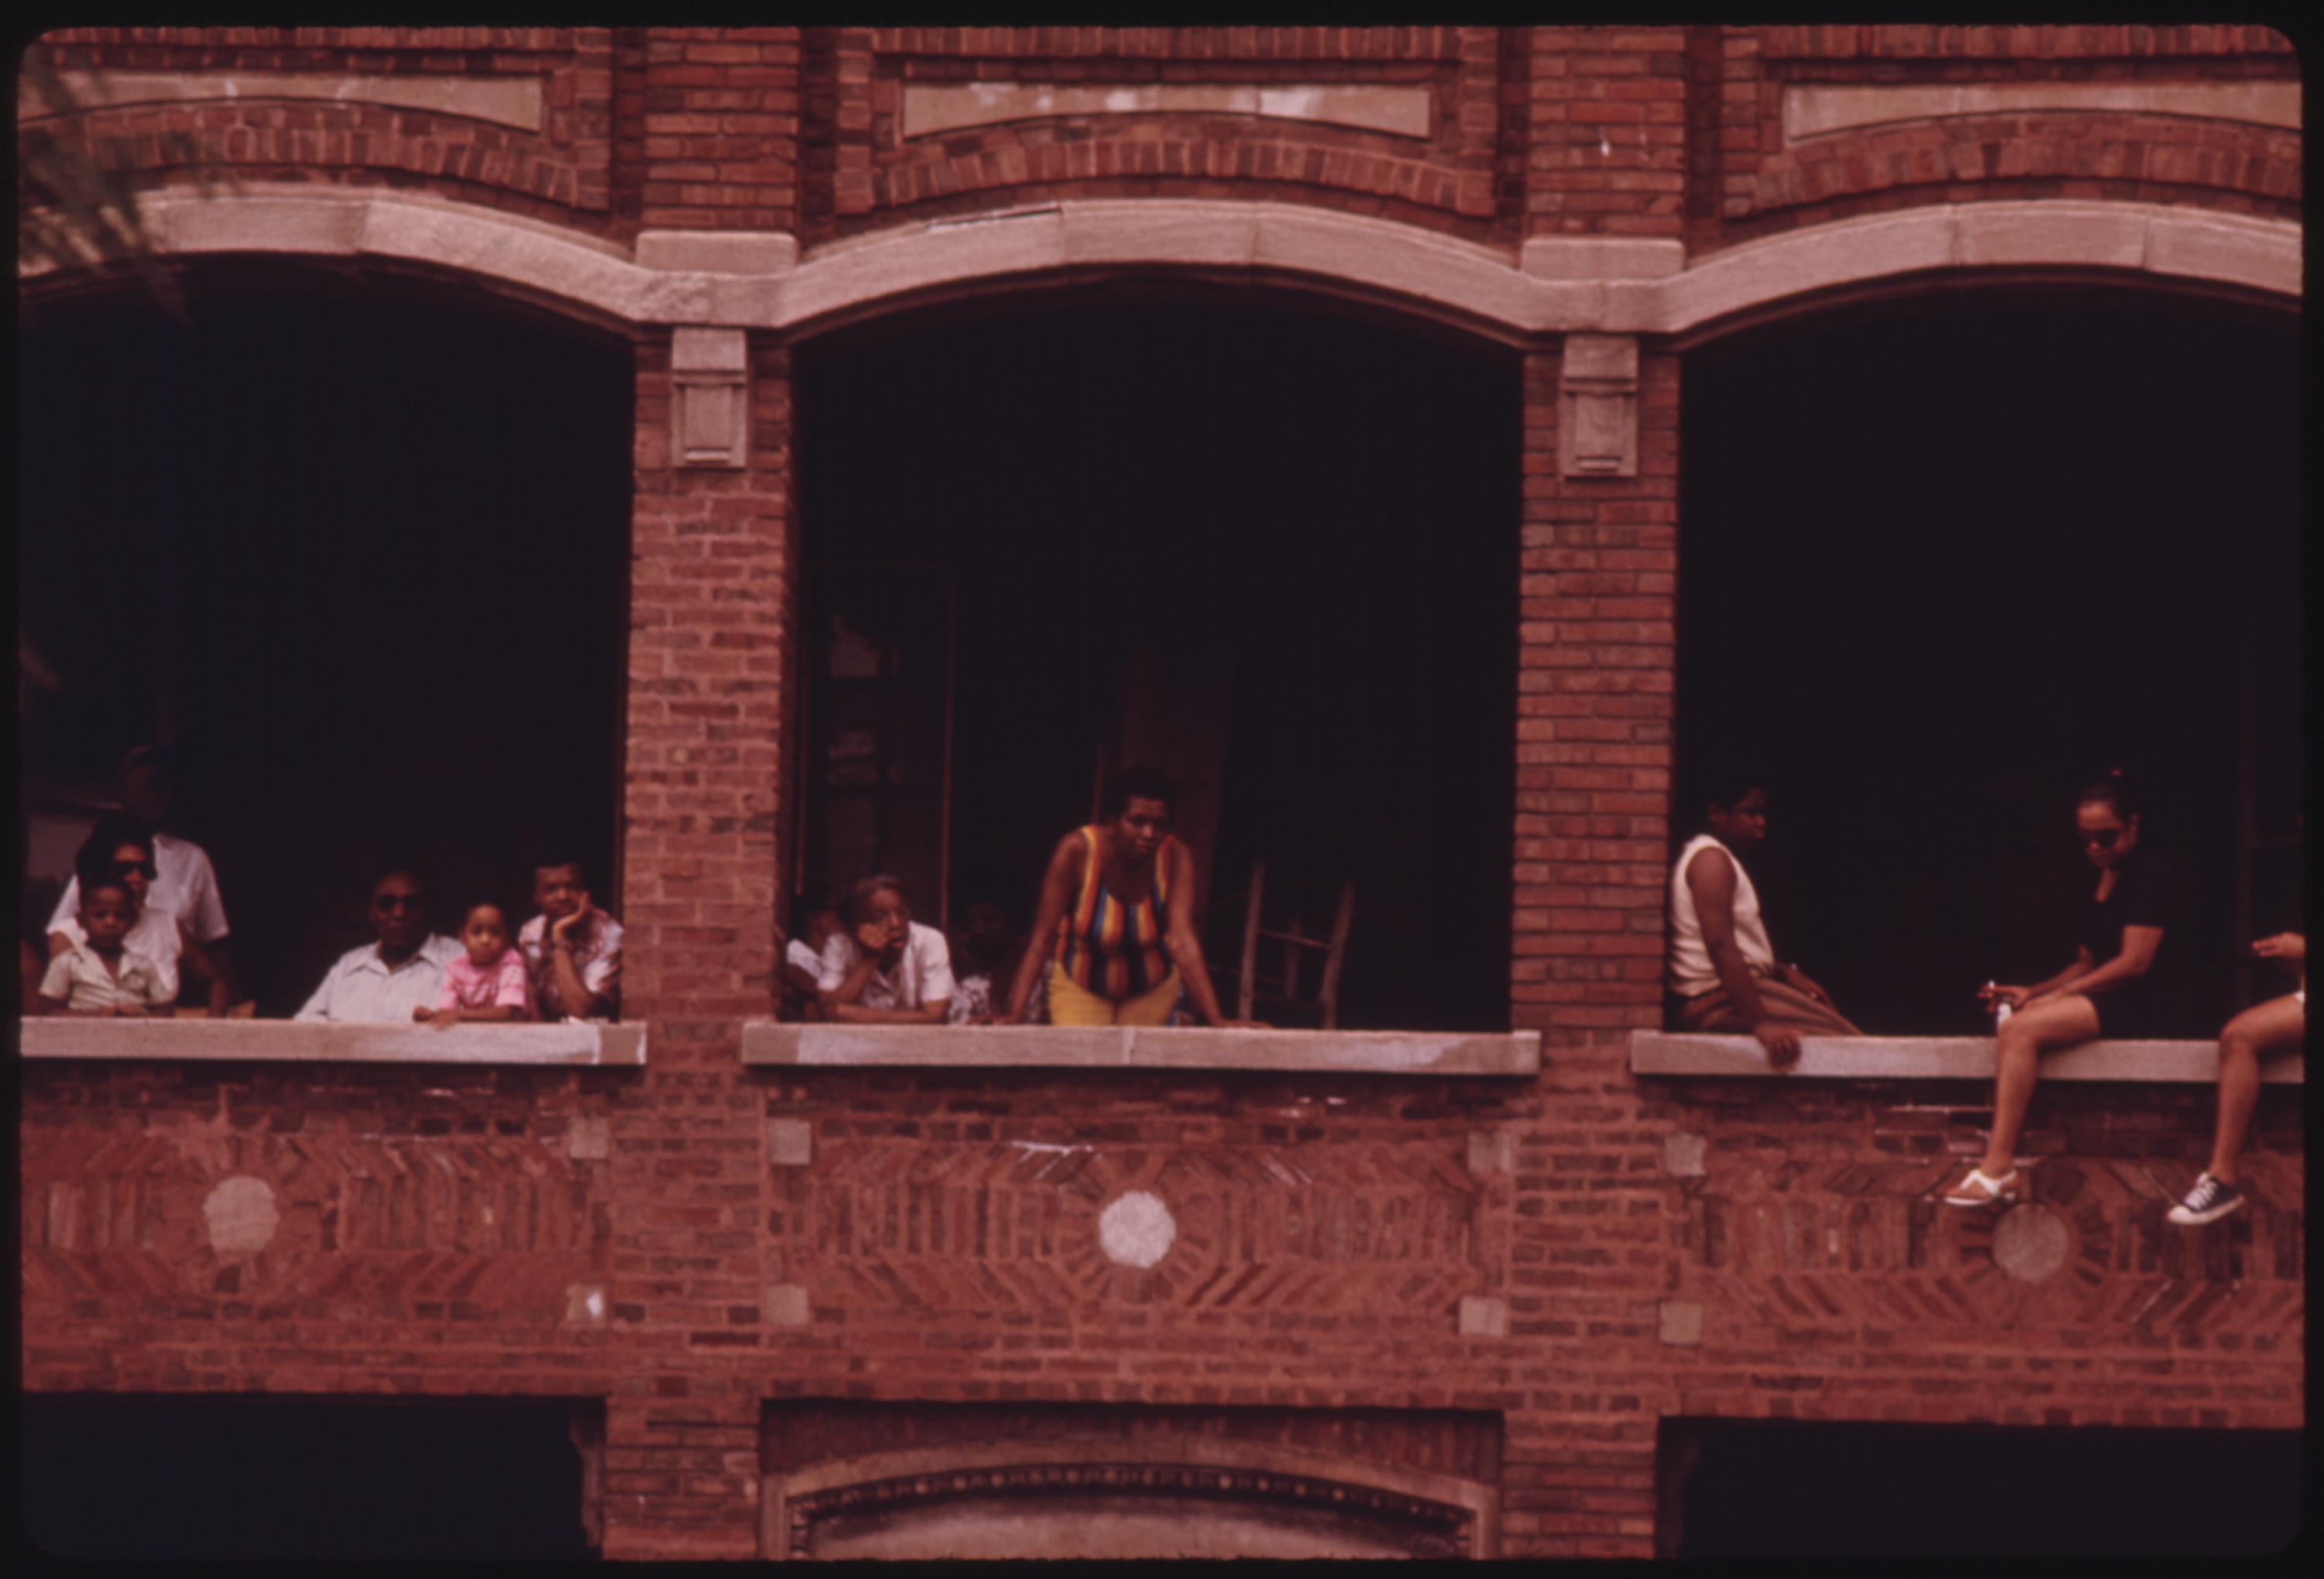
[[[2073,963],[2033,986],[1987,986],[2010,1016],[1994,1035],[1994,1128],[1985,1156],[1945,1193],[1948,1207],[1989,1207],[2020,1193],[2017,1135],[2033,1102],[2043,1053],[2103,1037],[2157,1035],[2154,953],[2171,907],[2171,870],[2138,849],[2138,814],[2122,770],[2087,786],[2073,809],[2082,856],[2099,872],[2082,902]]]

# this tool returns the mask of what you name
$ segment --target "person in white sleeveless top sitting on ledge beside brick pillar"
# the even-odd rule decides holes
[[[1748,1030],[1778,1070],[1799,1063],[1799,1033],[1855,1037],[1831,995],[1799,965],[1776,960],[1759,891],[1736,860],[1766,839],[1766,791],[1703,800],[1701,833],[1671,867],[1671,995],[1678,1030]]]

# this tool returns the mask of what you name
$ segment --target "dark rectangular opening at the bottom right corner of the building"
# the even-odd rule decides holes
[[[2296,1430],[1666,1419],[1678,1558],[2268,1556],[2301,1532]]]

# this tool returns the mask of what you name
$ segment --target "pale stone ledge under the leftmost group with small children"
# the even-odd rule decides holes
[[[641,1065],[632,1026],[316,1026],[297,1021],[19,1021],[23,1058],[165,1058],[174,1063],[551,1063]]]

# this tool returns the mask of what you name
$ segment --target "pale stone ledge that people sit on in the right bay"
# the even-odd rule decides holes
[[[2259,1060],[2259,1079],[2301,1086],[2301,1053]],[[1994,1077],[1992,1037],[1801,1037],[1799,1063],[1773,1070],[1752,1037],[1634,1030],[1631,1074],[1755,1074],[1762,1079],[1978,1079]],[[2217,1042],[2087,1042],[2040,1060],[2043,1079],[2117,1079],[2210,1086]]]

